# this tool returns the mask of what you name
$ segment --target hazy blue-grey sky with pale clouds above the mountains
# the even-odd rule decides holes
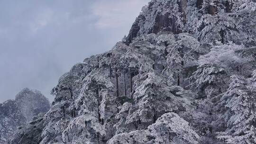
[[[149,0],[0,0],[0,103],[59,77],[128,34]]]

